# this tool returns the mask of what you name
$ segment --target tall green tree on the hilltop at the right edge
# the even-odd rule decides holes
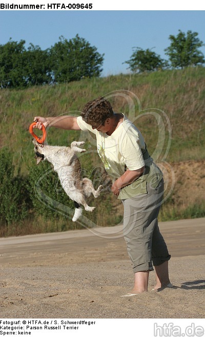
[[[179,30],[178,35],[170,35],[170,47],[165,49],[172,67],[184,68],[196,66],[205,62],[202,52],[198,49],[203,42],[198,38],[198,33],[188,30],[187,35]]]

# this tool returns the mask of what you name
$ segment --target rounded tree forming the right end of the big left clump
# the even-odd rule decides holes
[[[103,64],[104,54],[100,55],[96,47],[91,47],[78,34],[69,41],[64,36],[60,36],[59,40],[50,50],[55,82],[99,77],[103,70],[100,66]]]

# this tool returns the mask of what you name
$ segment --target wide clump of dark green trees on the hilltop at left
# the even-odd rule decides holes
[[[78,81],[84,77],[98,77],[103,69],[104,54],[90,46],[85,39],[60,41],[42,50],[25,41],[9,40],[0,45],[0,88],[22,88],[60,82]]]

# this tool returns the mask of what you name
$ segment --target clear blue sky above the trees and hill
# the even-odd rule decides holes
[[[0,44],[26,40],[46,49],[59,41],[59,36],[72,39],[76,34],[105,53],[103,76],[128,72],[127,64],[133,47],[154,48],[166,58],[169,35],[180,29],[198,32],[205,43],[205,11],[0,11]],[[205,47],[201,48],[205,54]]]

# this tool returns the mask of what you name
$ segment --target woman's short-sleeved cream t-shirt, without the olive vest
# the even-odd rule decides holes
[[[126,166],[130,171],[134,171],[145,165],[141,152],[146,147],[144,138],[125,116],[123,122],[110,136],[93,129],[82,117],[77,117],[77,124],[81,130],[89,130],[95,134],[98,155],[113,179],[124,174]]]

